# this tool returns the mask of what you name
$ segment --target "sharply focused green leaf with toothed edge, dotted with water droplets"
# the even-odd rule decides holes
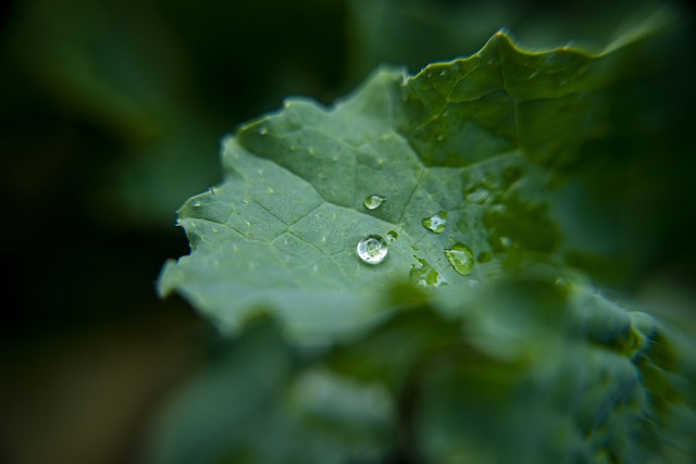
[[[382,68],[332,109],[287,100],[224,141],[225,181],[179,211],[191,255],[166,264],[160,291],[224,331],[271,312],[320,339],[373,324],[409,276],[475,286],[562,265],[547,186],[607,130],[601,90],[630,50],[526,52],[500,33],[413,77]],[[386,201],[369,210],[372,195]],[[435,234],[423,224],[440,211]],[[376,266],[356,253],[370,235],[390,241]],[[470,251],[459,272],[452,248]]]

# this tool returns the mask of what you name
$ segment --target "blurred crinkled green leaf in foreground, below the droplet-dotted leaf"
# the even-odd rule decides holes
[[[567,280],[448,290],[331,350],[252,325],[145,462],[691,462],[693,341]]]

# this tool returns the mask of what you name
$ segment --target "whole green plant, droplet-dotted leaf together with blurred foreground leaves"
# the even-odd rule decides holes
[[[663,13],[598,53],[499,33],[225,139],[159,289],[235,342],[151,460],[689,462],[693,342],[596,290],[624,244],[588,246],[599,203],[571,195],[607,179],[587,166],[625,136]]]

